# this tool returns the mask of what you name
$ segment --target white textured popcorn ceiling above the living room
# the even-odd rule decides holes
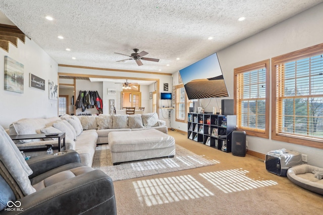
[[[0,11],[59,64],[174,73],[321,2],[2,0]],[[134,48],[160,61],[116,62]]]

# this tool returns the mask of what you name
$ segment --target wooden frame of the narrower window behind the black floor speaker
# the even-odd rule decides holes
[[[241,89],[241,86],[237,86],[237,77],[240,74],[247,73],[256,69],[265,68],[265,128],[250,128],[241,126],[241,114],[237,113],[238,105],[239,105],[239,94],[238,90]],[[247,135],[250,136],[258,136],[263,138],[269,138],[269,119],[270,119],[270,59],[262,60],[259,62],[255,62],[252,64],[248,64],[245,66],[241,66],[234,69],[234,107],[235,107],[235,114],[237,115],[237,130],[244,130]],[[256,99],[256,98],[253,98]],[[241,108],[239,108],[241,109]]]

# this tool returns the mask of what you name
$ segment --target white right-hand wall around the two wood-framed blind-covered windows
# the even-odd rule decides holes
[[[323,43],[322,11],[323,3],[224,50],[218,51],[230,98],[233,99],[234,68]],[[175,76],[176,74],[173,75]],[[218,106],[219,104],[221,107],[221,99],[202,99],[201,103],[205,111],[209,112],[212,111],[212,106]],[[175,121],[175,118],[173,120]],[[271,121],[268,123],[271,126]],[[187,124],[183,124],[176,123],[177,127],[174,127],[180,127],[181,130],[187,131]],[[308,155],[308,164],[323,167],[321,162],[323,150],[254,136],[247,136],[247,141],[248,148],[251,151],[266,154],[274,149],[295,150]]]

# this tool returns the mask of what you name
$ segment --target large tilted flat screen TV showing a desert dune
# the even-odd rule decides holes
[[[189,100],[229,96],[217,53],[181,69],[180,75]]]

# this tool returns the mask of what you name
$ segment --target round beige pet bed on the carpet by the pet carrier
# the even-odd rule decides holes
[[[323,195],[323,179],[317,177],[321,173],[323,173],[323,168],[301,164],[288,169],[287,177],[298,186]]]

